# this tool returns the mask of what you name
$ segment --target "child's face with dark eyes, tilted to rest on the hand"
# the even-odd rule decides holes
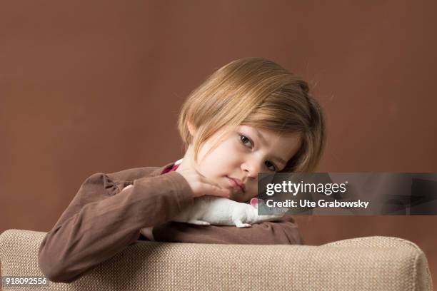
[[[282,170],[301,146],[298,134],[278,136],[251,126],[238,126],[206,155],[217,136],[218,133],[201,146],[199,163],[194,161],[192,146],[187,150],[183,163],[189,162],[202,175],[223,188],[231,189],[230,199],[238,202],[247,202],[258,195],[258,173]],[[235,187],[231,178],[240,180],[244,190]]]

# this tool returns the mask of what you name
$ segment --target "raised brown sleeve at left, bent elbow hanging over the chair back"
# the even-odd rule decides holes
[[[194,201],[178,172],[139,178],[123,191],[114,177],[87,178],[41,241],[38,265],[52,282],[79,279],[138,240],[141,228],[166,223]]]

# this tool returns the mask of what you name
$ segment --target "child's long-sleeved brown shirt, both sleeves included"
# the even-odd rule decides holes
[[[179,172],[160,175],[173,165],[95,173],[86,178],[41,242],[41,272],[53,282],[73,282],[125,247],[149,238],[161,242],[303,243],[289,215],[251,228],[171,222],[194,202],[190,185]],[[133,187],[124,189],[128,185]]]

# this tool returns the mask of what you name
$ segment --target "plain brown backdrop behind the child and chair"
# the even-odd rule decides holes
[[[176,118],[216,68],[271,58],[328,117],[321,171],[436,172],[436,1],[1,1],[0,232],[48,231],[86,177],[184,154]],[[416,242],[437,217],[298,217],[306,242]],[[436,279],[434,279],[436,280]]]

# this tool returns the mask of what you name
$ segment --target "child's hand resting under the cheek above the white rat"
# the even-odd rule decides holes
[[[193,190],[195,198],[204,195],[214,195],[229,198],[229,195],[231,195],[231,190],[221,188],[220,185],[218,185],[211,179],[206,178],[197,170],[194,170],[192,168],[179,170],[178,168],[176,169],[176,172],[180,173],[189,183],[191,190]]]

